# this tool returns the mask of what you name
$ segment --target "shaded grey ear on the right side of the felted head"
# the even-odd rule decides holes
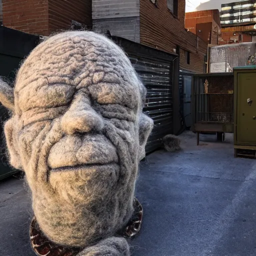
[[[153,128],[153,120],[141,113],[139,116],[139,161],[145,157],[145,145],[148,136]]]

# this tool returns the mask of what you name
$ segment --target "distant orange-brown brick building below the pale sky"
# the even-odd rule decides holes
[[[185,13],[185,28],[210,44],[218,44],[220,17],[218,9]]]

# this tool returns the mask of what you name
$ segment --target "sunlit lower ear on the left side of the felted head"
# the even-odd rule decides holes
[[[15,117],[10,118],[4,124],[4,134],[6,137],[7,148],[10,156],[10,165],[12,165],[16,169],[22,170],[22,164],[20,160],[19,153],[17,151],[17,139],[16,139],[16,132],[15,128]]]

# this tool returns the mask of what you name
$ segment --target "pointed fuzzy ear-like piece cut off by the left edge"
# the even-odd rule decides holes
[[[14,111],[13,88],[0,78],[0,102],[9,110]]]

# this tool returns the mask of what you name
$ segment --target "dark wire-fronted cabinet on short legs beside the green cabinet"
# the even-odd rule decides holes
[[[233,132],[233,73],[195,74],[192,84],[192,129],[197,133]]]

